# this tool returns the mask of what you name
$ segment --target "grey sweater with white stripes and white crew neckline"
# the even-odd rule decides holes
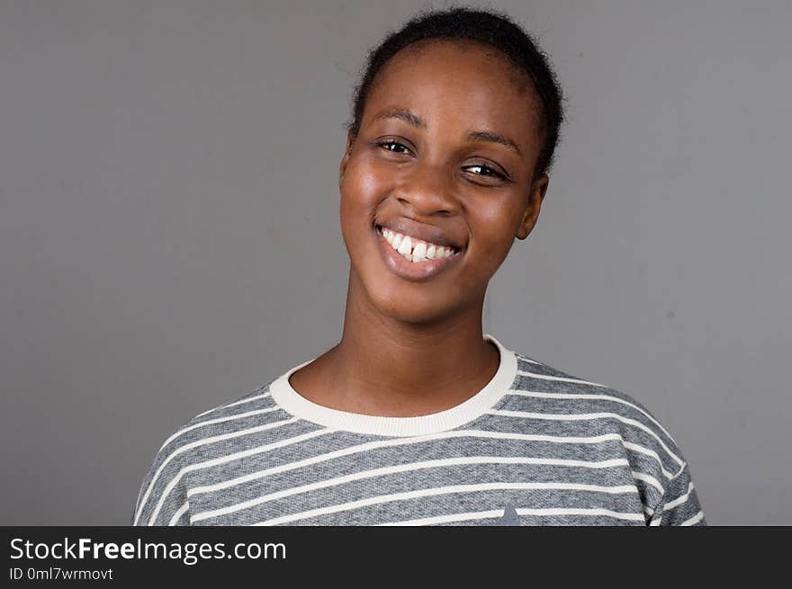
[[[289,384],[304,362],[166,439],[134,525],[705,525],[644,406],[514,353],[461,405],[359,415]]]

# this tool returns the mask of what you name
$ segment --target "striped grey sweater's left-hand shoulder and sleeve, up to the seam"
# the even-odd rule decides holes
[[[195,415],[159,447],[140,486],[134,525],[179,521],[187,505],[190,473],[225,460],[267,431],[294,421],[275,404],[268,382],[242,397]]]

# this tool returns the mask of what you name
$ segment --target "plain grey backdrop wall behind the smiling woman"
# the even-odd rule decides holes
[[[689,4],[492,4],[570,103],[484,329],[649,406],[710,523],[792,524],[792,3]],[[0,523],[127,523],[175,428],[338,341],[342,124],[426,5],[0,2]]]

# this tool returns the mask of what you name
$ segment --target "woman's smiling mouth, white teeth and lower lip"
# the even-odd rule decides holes
[[[407,280],[428,280],[461,257],[456,247],[432,244],[379,225],[376,234],[385,263],[392,272]]]

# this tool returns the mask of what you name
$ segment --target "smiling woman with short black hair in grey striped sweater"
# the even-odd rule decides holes
[[[168,438],[133,521],[704,524],[644,406],[482,333],[536,225],[561,96],[504,14],[424,13],[383,40],[339,168],[340,341]]]

